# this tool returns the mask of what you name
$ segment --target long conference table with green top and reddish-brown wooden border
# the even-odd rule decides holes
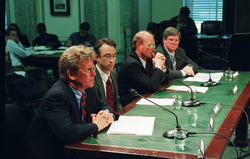
[[[164,132],[176,127],[175,116],[155,105],[136,104],[141,99],[139,97],[119,110],[117,114],[155,117],[151,136],[110,135],[106,133],[108,128],[105,128],[98,132],[97,137],[66,144],[65,152],[71,155],[99,158],[198,158],[198,144],[202,137],[205,145],[205,157],[221,158],[229,141],[225,137],[211,133],[222,134],[230,139],[236,132],[235,144],[248,143],[248,121],[246,121],[243,111],[235,106],[248,112],[250,72],[239,72],[239,74],[233,81],[225,81],[223,76],[219,81],[222,83],[221,85],[209,87],[205,93],[197,93],[196,99],[206,104],[195,107],[198,111],[196,127],[191,127],[187,123],[187,110],[190,107],[181,107],[180,110],[176,110],[173,106],[163,106],[177,115],[182,128],[197,133],[190,134],[186,138],[184,150],[175,148],[174,139],[163,137]],[[200,86],[201,82],[184,81],[184,79],[178,80],[189,86]],[[188,92],[166,90],[171,85],[180,85],[180,83],[170,79],[168,83],[161,84],[156,93],[146,93],[143,96],[146,98],[172,98],[174,94],[181,94],[183,101],[188,100]],[[237,85],[238,91],[232,95],[235,85]],[[217,115],[213,116],[213,130],[209,130],[210,115],[213,114],[213,108],[217,102],[221,104],[221,109]],[[237,157],[236,152],[234,157]]]

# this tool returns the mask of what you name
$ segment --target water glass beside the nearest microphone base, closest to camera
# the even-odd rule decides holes
[[[179,150],[184,150],[184,146],[186,144],[186,129],[182,128],[175,128],[174,133],[174,145]]]

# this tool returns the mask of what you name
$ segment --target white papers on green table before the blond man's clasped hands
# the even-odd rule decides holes
[[[107,134],[147,135],[153,134],[155,117],[120,116],[114,121]]]

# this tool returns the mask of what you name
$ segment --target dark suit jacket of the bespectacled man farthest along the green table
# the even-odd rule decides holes
[[[194,73],[198,72],[198,65],[187,57],[186,52],[181,47],[175,50],[175,57],[179,56],[181,58],[179,60],[176,59],[176,70],[173,70],[171,59],[163,44],[158,45],[154,52],[160,52],[166,57],[165,65],[168,67],[169,76],[172,78],[181,78],[182,73],[180,70],[188,64],[193,66]]]

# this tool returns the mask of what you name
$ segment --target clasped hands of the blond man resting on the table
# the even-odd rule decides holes
[[[108,109],[100,110],[97,114],[91,114],[92,123],[98,127],[98,132],[107,127],[114,121],[113,114]]]

